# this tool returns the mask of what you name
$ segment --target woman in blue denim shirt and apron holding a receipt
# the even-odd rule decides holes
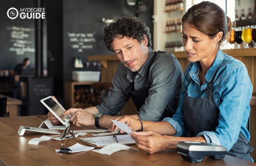
[[[131,134],[140,149],[154,153],[176,148],[179,141],[211,142],[225,146],[229,155],[252,161],[246,129],[252,84],[245,65],[219,49],[231,27],[225,12],[211,2],[185,13],[183,44],[191,63],[176,114],[162,122],[119,120],[132,130],[151,130]],[[112,125],[110,130],[116,129]],[[186,131],[191,137],[181,137]]]

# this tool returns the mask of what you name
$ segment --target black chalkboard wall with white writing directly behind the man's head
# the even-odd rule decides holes
[[[134,14],[126,8],[125,0],[63,0],[64,81],[71,81],[71,71],[76,70],[73,63],[75,57],[85,62],[88,55],[112,54],[103,45],[103,30],[106,26],[102,22],[103,17],[115,19]],[[153,38],[152,15],[153,7],[141,13],[139,19],[149,26]]]

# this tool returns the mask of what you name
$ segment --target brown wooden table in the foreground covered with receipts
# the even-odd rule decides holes
[[[63,141],[49,140],[40,142],[39,145],[28,144],[31,138],[41,137],[41,134],[18,136],[17,130],[20,125],[38,127],[47,118],[43,116],[27,117],[6,117],[0,118],[0,165],[89,165],[89,166],[120,166],[120,165],[254,165],[254,163],[226,155],[223,160],[215,160],[206,157],[202,162],[191,163],[185,161],[174,151],[161,151],[155,154],[147,154],[144,151],[133,149],[115,152],[112,155],[99,154],[93,151],[84,151],[73,154],[63,154],[55,152],[60,149],[61,143],[71,146],[77,141],[73,138]],[[76,127],[77,129],[95,129],[95,127]],[[91,133],[86,136],[89,137]],[[132,145],[136,148],[136,145]]]

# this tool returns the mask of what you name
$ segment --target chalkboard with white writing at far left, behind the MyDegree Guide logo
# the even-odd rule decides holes
[[[1,1],[0,5],[0,69],[14,69],[22,63],[25,57],[31,61],[30,66],[35,66],[35,23],[34,19],[12,20],[7,17],[7,10],[11,7],[33,8],[36,1],[8,0]]]

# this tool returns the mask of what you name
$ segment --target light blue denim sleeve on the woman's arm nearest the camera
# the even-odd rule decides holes
[[[252,85],[245,66],[235,68],[225,81],[219,105],[218,126],[214,133],[221,145],[229,151],[240,132],[249,140],[245,127],[250,114]]]

